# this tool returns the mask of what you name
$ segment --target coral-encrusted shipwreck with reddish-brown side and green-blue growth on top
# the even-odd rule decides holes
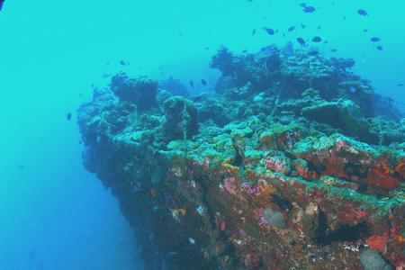
[[[353,65],[220,49],[211,93],[125,74],[94,89],[84,163],[146,269],[403,269],[405,119]]]

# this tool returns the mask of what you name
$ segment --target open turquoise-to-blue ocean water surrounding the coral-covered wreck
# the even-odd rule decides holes
[[[104,74],[203,78],[210,86],[218,74],[208,65],[221,45],[256,51],[320,36],[329,41],[320,43],[325,55],[354,58],[356,73],[404,108],[405,3],[308,1],[312,14],[301,3],[6,0],[0,11],[0,269],[141,269],[137,241],[115,198],[81,161],[76,108],[90,99],[91,85],[106,82]],[[296,30],[288,32],[290,26]]]

